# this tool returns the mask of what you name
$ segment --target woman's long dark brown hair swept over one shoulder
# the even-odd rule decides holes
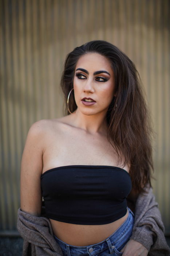
[[[61,79],[66,103],[68,93],[73,88],[76,63],[86,53],[99,53],[110,61],[116,97],[113,97],[107,111],[107,139],[116,150],[119,160],[123,160],[124,165],[130,163],[133,188],[142,192],[146,185],[151,186],[152,129],[138,71],[126,54],[109,42],[87,42],[67,55]],[[74,97],[69,99],[69,108],[71,112],[77,108]]]

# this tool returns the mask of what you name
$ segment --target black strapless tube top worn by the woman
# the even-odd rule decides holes
[[[131,178],[115,166],[61,166],[41,174],[41,190],[48,218],[101,225],[126,214]]]

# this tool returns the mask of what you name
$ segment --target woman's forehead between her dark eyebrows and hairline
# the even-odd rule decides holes
[[[76,64],[76,68],[85,68],[92,70],[112,70],[110,61],[99,53],[86,53],[81,56]]]

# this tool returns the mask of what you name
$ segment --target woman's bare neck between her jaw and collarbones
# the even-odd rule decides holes
[[[74,125],[80,129],[94,134],[103,133],[107,134],[107,120],[106,112],[100,112],[94,115],[85,115],[76,109],[76,111],[71,115]]]

